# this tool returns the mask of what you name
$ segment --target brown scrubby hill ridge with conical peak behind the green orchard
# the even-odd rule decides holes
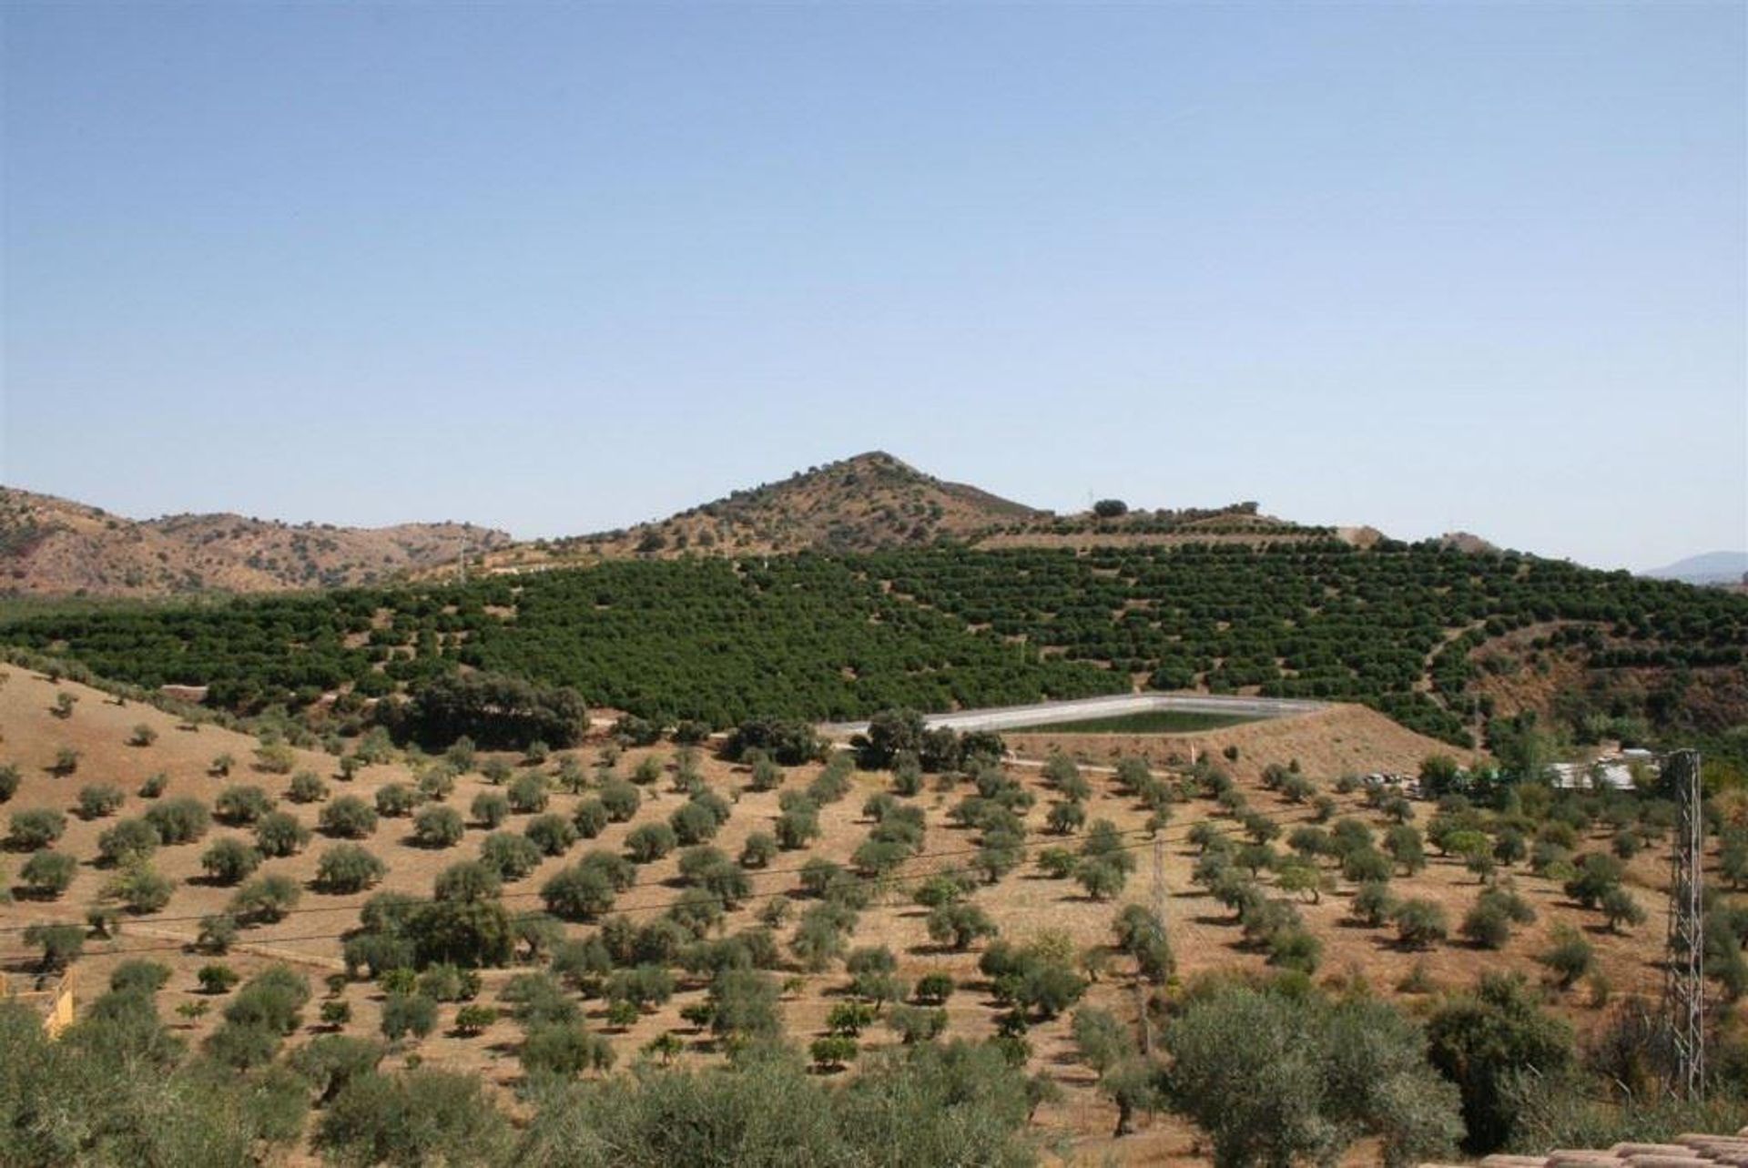
[[[470,523],[341,528],[236,514],[140,521],[0,486],[0,594],[166,596],[432,581],[456,575],[463,554],[472,570],[517,574],[603,560],[939,544],[1087,549],[1327,539],[1365,547],[1383,533],[1304,526],[1262,514],[1253,502],[1147,511],[1106,500],[1091,511],[1056,514],[937,479],[886,451],[797,470],[664,519],[530,542]],[[1484,546],[1475,537],[1453,539]]]

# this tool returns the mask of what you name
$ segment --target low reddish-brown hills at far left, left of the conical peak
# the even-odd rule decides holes
[[[234,514],[140,521],[0,488],[0,591],[26,596],[371,584],[509,542],[507,533],[470,523],[339,528]]]

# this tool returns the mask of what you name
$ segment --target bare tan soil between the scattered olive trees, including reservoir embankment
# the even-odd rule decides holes
[[[327,801],[355,796],[374,803],[385,787],[390,783],[413,785],[418,769],[423,769],[409,766],[407,761],[381,762],[364,768],[348,782],[337,775],[332,755],[295,750],[288,759],[292,771],[308,769],[318,775],[329,789],[325,801],[295,803],[288,797],[292,776],[262,769],[257,764],[260,743],[246,734],[212,724],[196,729],[192,724],[182,724],[161,710],[135,701],[126,706],[115,705],[101,691],[68,680],[51,682],[23,666],[3,664],[0,677],[5,678],[0,682],[0,764],[16,766],[19,773],[17,792],[0,804],[0,829],[10,817],[30,810],[59,811],[66,817],[66,824],[65,836],[54,843],[54,852],[77,860],[77,873],[59,895],[17,895],[12,904],[0,911],[0,972],[24,984],[35,977],[38,953],[35,946],[23,941],[23,930],[40,921],[79,923],[86,920],[87,909],[107,902],[105,888],[115,873],[98,864],[98,841],[117,822],[142,817],[156,806],[152,797],[142,794],[147,776],[164,776],[161,799],[192,797],[206,808],[212,808],[229,787],[255,785],[278,801],[280,811],[292,815],[308,829],[318,829]],[[56,701],[63,692],[75,701],[66,717],[58,717]],[[1026,741],[1026,738],[1040,741]],[[1264,948],[1248,942],[1236,916],[1190,879],[1197,862],[1197,848],[1189,838],[1190,831],[1197,824],[1211,824],[1222,832],[1236,832],[1238,820],[1224,815],[1210,797],[1197,796],[1178,801],[1173,804],[1171,824],[1157,836],[1161,848],[1155,852],[1152,838],[1143,827],[1148,808],[1126,796],[1108,769],[1110,759],[1105,752],[1119,743],[1105,740],[1094,745],[1092,741],[1079,741],[1087,736],[1073,734],[1059,738],[1070,748],[1086,748],[1089,755],[1086,768],[1087,817],[1089,820],[1110,820],[1115,825],[1129,841],[1126,846],[1136,857],[1136,871],[1124,888],[1108,900],[1084,895],[1080,886],[1070,879],[1049,878],[1038,864],[1040,853],[1049,846],[1079,848],[1084,836],[1059,836],[1049,831],[1047,813],[1056,796],[1044,783],[1042,769],[1035,764],[1010,766],[1012,780],[1035,797],[1021,811],[1026,829],[1024,855],[1016,871],[979,881],[970,893],[972,902],[996,925],[1000,937],[1016,944],[1051,939],[1052,944],[1068,944],[1077,953],[1094,946],[1108,946],[1112,920],[1119,909],[1131,902],[1152,902],[1154,866],[1157,862],[1166,900],[1164,920],[1180,977],[1192,981],[1211,970],[1266,972],[1269,967]],[[1154,740],[1129,736],[1120,747],[1150,750],[1155,766],[1161,768],[1159,773],[1164,775],[1169,773],[1169,768],[1162,759],[1183,752],[1187,741],[1197,741],[1203,754],[1227,745],[1241,747],[1239,757],[1231,764],[1238,790],[1245,794],[1252,810],[1267,815],[1285,832],[1309,825],[1314,811],[1309,804],[1294,803],[1281,792],[1267,790],[1260,782],[1260,773],[1269,762],[1285,764],[1290,759],[1299,759],[1304,773],[1316,782],[1318,790],[1334,801],[1332,813],[1337,818],[1355,817],[1379,838],[1390,827],[1386,813],[1369,806],[1360,792],[1342,794],[1335,785],[1335,776],[1349,768],[1367,771],[1381,766],[1404,766],[1423,750],[1437,748],[1435,743],[1416,740],[1407,731],[1369,712],[1351,708],[1334,708],[1308,719],[1238,726],[1197,736]],[[1012,745],[1047,747],[1042,736],[1016,736]],[[598,738],[579,750],[565,752],[565,755],[573,757],[582,773],[600,773],[600,768],[608,766],[605,747],[605,740]],[[77,771],[72,775],[51,773],[61,748],[79,752]],[[213,771],[213,761],[220,755],[234,759],[229,775]],[[669,815],[685,803],[685,796],[675,790],[678,757],[671,747],[629,748],[612,766],[621,776],[636,775],[638,764],[649,757],[656,759],[661,778],[640,787],[640,803],[631,818],[600,827],[598,836],[572,841],[563,848],[563,855],[545,855],[533,871],[509,879],[502,899],[510,911],[538,909],[542,904],[540,890],[559,871],[580,862],[594,850],[624,853],[633,831],[647,824],[668,822]],[[505,755],[505,761],[512,759]],[[570,820],[579,804],[598,797],[598,790],[584,789],[577,794],[565,790],[552,782],[558,766],[559,761],[554,757],[538,768],[552,783],[545,810]],[[729,857],[739,855],[753,832],[771,832],[781,813],[783,794],[806,790],[820,773],[818,764],[790,768],[783,773],[778,789],[753,790],[746,768],[724,762],[710,752],[697,757],[696,766],[703,782],[731,801],[731,817],[711,841],[711,846],[720,848]],[[79,792],[98,783],[119,787],[121,804],[110,815],[84,818],[77,813]],[[86,937],[84,955],[72,969],[75,986],[79,986],[79,993],[86,995],[82,1000],[89,1002],[122,960],[161,962],[170,969],[170,983],[157,995],[159,1012],[166,1019],[178,1019],[173,1023],[177,1033],[196,1047],[218,1026],[225,1004],[224,998],[199,991],[196,972],[203,965],[222,962],[246,977],[274,962],[285,962],[295,972],[309,977],[320,993],[322,979],[343,969],[344,934],[358,927],[364,902],[374,892],[425,897],[437,874],[447,866],[477,859],[491,829],[472,818],[470,808],[474,808],[475,799],[502,796],[503,790],[503,787],[491,785],[477,771],[456,778],[454,790],[444,801],[447,806],[468,813],[470,818],[461,839],[451,846],[421,846],[407,817],[385,815],[360,841],[360,846],[386,864],[386,874],[374,888],[334,892],[315,881],[322,855],[343,843],[320,832],[295,853],[264,860],[257,874],[290,878],[301,890],[299,902],[283,920],[260,921],[245,928],[232,949],[222,958],[191,948],[199,932],[201,918],[224,913],[236,895],[234,886],[203,878],[201,857],[218,839],[252,843],[253,829],[213,824],[199,841],[164,845],[150,857],[150,864],[154,871],[175,881],[168,904],[159,911],[126,916],[121,932],[112,937]],[[958,794],[940,790],[933,782],[916,796],[895,796],[893,775],[884,771],[853,773],[850,790],[820,808],[820,836],[816,839],[808,841],[804,848],[783,853],[769,867],[748,869],[750,895],[725,913],[717,932],[736,935],[753,928],[760,921],[762,909],[780,895],[792,899],[797,906],[806,906],[809,895],[801,885],[802,866],[815,859],[841,866],[851,864],[851,857],[872,829],[871,820],[864,815],[864,806],[869,797],[881,792],[916,808],[925,824],[925,839],[921,853],[902,864],[891,876],[897,881],[895,886],[874,897],[867,909],[857,914],[846,946],[851,949],[886,946],[897,958],[897,974],[911,984],[928,974],[949,976],[960,988],[944,1005],[947,1037],[989,1037],[996,1032],[1003,1007],[995,1000],[989,979],[979,970],[984,942],[977,942],[967,951],[935,944],[928,937],[926,913],[919,911],[911,897],[914,885],[930,874],[958,867],[975,850],[975,834],[956,824],[953,817]],[[1425,827],[1432,811],[1430,804],[1416,803],[1416,811],[1414,822]],[[531,810],[512,811],[500,824],[500,831],[519,836],[528,831],[533,820],[535,811]],[[1601,822],[1585,829],[1578,843],[1580,850],[1606,850],[1612,831]],[[1287,850],[1285,843],[1278,843],[1276,848]],[[640,866],[636,881],[615,897],[614,913],[638,925],[666,913],[680,895],[680,855],[676,850]],[[19,885],[19,892],[23,892],[21,869],[26,862],[28,855],[23,850],[0,855],[0,885]],[[1556,927],[1571,925],[1582,928],[1594,946],[1598,969],[1613,993],[1622,997],[1655,995],[1661,984],[1659,958],[1662,948],[1657,921],[1662,920],[1668,904],[1662,893],[1668,871],[1666,838],[1654,841],[1626,866],[1626,885],[1647,911],[1648,921],[1624,932],[1608,930],[1598,913],[1585,911],[1566,899],[1557,879],[1536,876],[1523,862],[1509,866],[1502,878],[1516,881],[1514,886],[1535,907],[1536,918],[1516,927],[1500,949],[1481,949],[1453,937],[1435,942],[1425,951],[1409,951],[1397,944],[1395,930],[1362,925],[1353,911],[1353,881],[1341,878],[1339,869],[1327,859],[1318,860],[1318,866],[1328,876],[1328,886],[1314,897],[1288,895],[1276,886],[1276,878],[1266,871],[1262,883],[1273,899],[1294,900],[1304,927],[1318,939],[1321,946],[1320,979],[1335,979],[1337,984],[1363,983],[1384,997],[1397,998],[1407,1009],[1426,1009],[1437,1000],[1428,991],[1465,988],[1482,970],[1516,969],[1531,977],[1542,977],[1536,955],[1550,946]],[[1465,869],[1460,857],[1432,855],[1425,869],[1398,874],[1391,886],[1397,895],[1421,897],[1437,904],[1454,927],[1475,904],[1484,885]],[[797,960],[792,942],[799,930],[799,914],[801,911],[792,913],[773,927],[778,962],[773,976],[785,984],[778,1002],[783,1030],[794,1044],[806,1047],[813,1039],[827,1033],[830,1009],[848,997],[848,977],[837,962],[830,962],[823,970],[813,970]],[[566,939],[586,939],[600,925],[565,921],[559,928]],[[1110,955],[1106,953],[1106,956]],[[482,970],[477,1002],[495,1007],[500,1012],[498,1019],[489,1023],[482,1033],[467,1035],[453,1025],[460,1005],[446,1002],[440,1007],[439,1025],[425,1037],[407,1039],[397,1053],[397,1060],[416,1054],[428,1067],[477,1072],[486,1079],[489,1091],[510,1100],[523,1077],[519,1063],[523,1032],[512,1018],[512,1002],[507,1000],[505,990],[512,977],[533,972],[533,969],[537,967],[530,963],[512,963]],[[551,967],[547,965],[547,969]],[[1112,1011],[1126,1026],[1134,1025],[1138,1002],[1131,969],[1131,963],[1120,956],[1106,962],[1105,972],[1086,988],[1084,998],[1089,1005]],[[1414,993],[1398,990],[1411,974],[1418,974],[1418,990]],[[685,1016],[689,1007],[708,998],[708,976],[675,969],[673,977],[673,997],[650,1004],[629,1025],[614,1023],[607,1016],[608,1002],[603,997],[568,995],[568,998],[582,1011],[587,1028],[607,1037],[612,1044],[619,1068],[629,1067],[640,1049],[662,1035],[678,1039],[680,1049],[675,1060],[680,1065],[720,1063],[722,1051],[711,1040],[708,1028],[697,1028]],[[1606,1018],[1603,1011],[1584,1005],[1585,991],[1580,988],[1559,991],[1550,986],[1547,995],[1550,1007],[1570,1018],[1580,1032],[1594,1030]],[[374,1039],[379,1033],[386,1002],[379,983],[362,979],[343,983],[329,1000],[343,1002],[350,1011],[350,1021],[329,1026],[320,1021],[318,1005],[311,1002],[302,1011],[302,1021],[287,1035],[287,1047],[295,1049],[322,1033],[339,1032],[357,1039]],[[205,1011],[199,1009],[201,1004],[206,1004]],[[180,1016],[178,1007],[199,1012]],[[1058,1102],[1038,1110],[1033,1128],[1040,1142],[1058,1149],[1059,1161],[1052,1163],[1129,1163],[1168,1165],[1171,1168],[1204,1165],[1206,1154],[1197,1133],[1175,1116],[1143,1121],[1140,1131],[1131,1137],[1110,1137],[1115,1109],[1098,1091],[1094,1072],[1077,1058],[1070,1023],[1072,1016],[1065,1012],[1037,1021],[1026,1035],[1031,1049],[1026,1063],[1028,1074],[1047,1075],[1063,1093]],[[860,1037],[857,1061],[860,1063],[876,1051],[891,1049],[897,1044],[898,1039],[888,1026],[869,1026]],[[294,1154],[287,1163],[315,1161]],[[1372,1145],[1360,1145],[1342,1163],[1376,1165],[1379,1158]]]

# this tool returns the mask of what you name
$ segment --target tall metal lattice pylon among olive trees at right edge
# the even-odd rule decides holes
[[[1699,1100],[1706,1091],[1706,913],[1701,900],[1704,811],[1699,752],[1676,750],[1664,762],[1680,806],[1669,855],[1669,941],[1664,951],[1662,1014],[1669,1026],[1669,1089]]]

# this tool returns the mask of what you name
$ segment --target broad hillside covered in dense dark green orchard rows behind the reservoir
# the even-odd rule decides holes
[[[610,561],[467,586],[21,608],[0,643],[208,701],[343,706],[460,668],[657,722],[1152,689],[1360,701],[1454,745],[1748,720],[1748,598],[1514,553],[1335,540]]]

